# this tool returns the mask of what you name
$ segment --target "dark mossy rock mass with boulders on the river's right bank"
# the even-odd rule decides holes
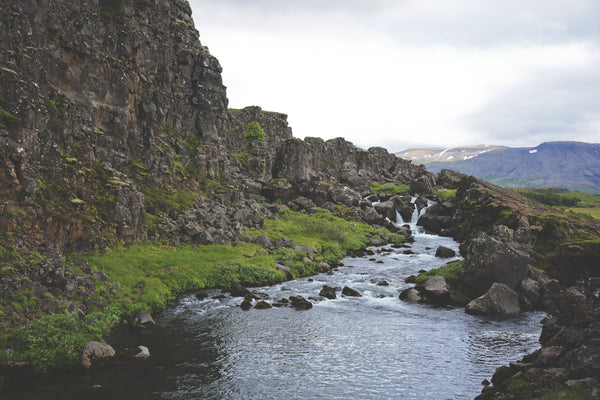
[[[467,310],[552,316],[542,348],[498,368],[478,399],[598,398],[600,226],[474,177],[442,171],[437,181],[457,189],[456,198],[430,207],[420,223],[461,241],[460,284],[478,297]],[[509,302],[495,299],[499,287]]]

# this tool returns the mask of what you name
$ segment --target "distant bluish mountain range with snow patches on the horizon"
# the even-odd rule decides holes
[[[507,187],[564,187],[600,193],[600,143],[418,148],[396,155],[425,164],[432,172],[451,169]]]

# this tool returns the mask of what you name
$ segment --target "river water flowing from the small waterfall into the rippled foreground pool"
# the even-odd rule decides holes
[[[185,296],[158,316],[153,329],[111,337],[118,346],[146,345],[149,359],[42,380],[19,390],[18,398],[474,398],[496,367],[539,347],[543,314],[480,317],[400,301],[407,276],[450,261],[435,257],[438,246],[458,250],[449,238],[415,239],[410,249],[385,247],[373,249],[370,260],[346,258],[333,275],[257,289],[271,299],[309,298],[327,284],[349,286],[362,297],[338,292],[333,300],[313,300],[310,310],[242,311],[240,298]],[[414,254],[403,254],[407,250]],[[7,398],[11,393],[17,392]]]

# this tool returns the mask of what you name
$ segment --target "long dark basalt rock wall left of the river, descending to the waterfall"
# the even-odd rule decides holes
[[[434,182],[381,148],[293,138],[285,114],[229,110],[198,37],[185,0],[0,0],[2,296],[51,293],[85,313],[107,278],[76,252],[236,242],[276,216],[265,198],[400,229],[359,192]],[[264,141],[245,136],[251,122]]]

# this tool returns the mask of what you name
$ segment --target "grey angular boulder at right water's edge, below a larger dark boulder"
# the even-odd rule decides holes
[[[518,314],[519,297],[507,285],[495,282],[483,296],[467,304],[465,311],[476,315]]]

